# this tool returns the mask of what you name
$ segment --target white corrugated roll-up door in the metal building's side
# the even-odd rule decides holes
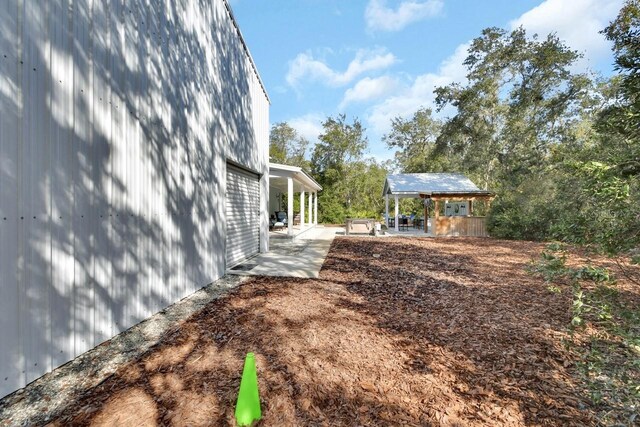
[[[260,177],[227,164],[227,268],[260,251]]]

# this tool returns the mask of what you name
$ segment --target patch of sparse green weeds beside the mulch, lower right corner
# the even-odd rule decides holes
[[[529,271],[554,294],[570,292],[578,372],[603,425],[640,422],[640,309],[625,301],[614,275],[593,265],[567,266],[568,249],[549,244]]]

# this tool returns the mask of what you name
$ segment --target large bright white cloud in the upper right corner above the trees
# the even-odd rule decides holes
[[[595,61],[611,50],[599,31],[621,7],[622,0],[546,0],[509,25],[512,29],[522,26],[540,37],[557,33],[572,49],[585,54],[584,61]]]

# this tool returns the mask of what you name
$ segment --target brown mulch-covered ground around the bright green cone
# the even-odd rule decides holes
[[[542,245],[337,238],[319,279],[250,279],[70,402],[54,425],[234,425],[254,352],[259,425],[590,425],[571,296]]]

